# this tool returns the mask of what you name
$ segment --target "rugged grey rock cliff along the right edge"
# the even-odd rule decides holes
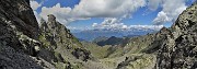
[[[197,68],[197,3],[187,8],[165,33],[158,54],[158,68]]]

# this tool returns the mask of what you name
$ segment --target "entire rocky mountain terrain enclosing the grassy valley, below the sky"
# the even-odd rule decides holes
[[[54,14],[38,25],[28,0],[0,0],[0,69],[195,69],[197,3],[155,34],[103,39],[79,42]]]

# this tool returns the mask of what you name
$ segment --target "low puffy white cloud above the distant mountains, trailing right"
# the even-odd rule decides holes
[[[125,25],[120,23],[121,19],[107,18],[101,24],[93,23],[96,30],[155,30],[159,31],[163,25]]]

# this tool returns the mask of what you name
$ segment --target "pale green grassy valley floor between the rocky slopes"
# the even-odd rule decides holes
[[[105,69],[149,69],[155,64],[155,55],[143,53],[154,41],[154,35],[139,36],[128,39],[125,46],[97,46],[93,43],[84,43],[99,64]],[[126,59],[135,58],[135,59]],[[119,66],[119,67],[118,67]]]

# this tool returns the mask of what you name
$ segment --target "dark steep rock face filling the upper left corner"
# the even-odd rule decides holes
[[[1,24],[7,23],[31,38],[37,38],[38,23],[27,0],[1,0]],[[9,24],[10,23],[10,24]],[[14,30],[12,30],[14,31]]]

